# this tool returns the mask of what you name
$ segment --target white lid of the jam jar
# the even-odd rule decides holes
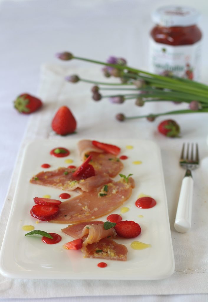
[[[191,26],[197,24],[200,13],[188,6],[168,5],[158,8],[152,13],[152,20],[165,27]]]

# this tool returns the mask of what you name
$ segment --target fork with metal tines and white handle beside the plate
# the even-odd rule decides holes
[[[191,170],[199,167],[199,150],[198,144],[183,144],[180,166],[186,169],[182,181],[180,196],[178,200],[177,213],[174,227],[179,233],[186,233],[191,227],[192,199],[193,199],[193,178]]]

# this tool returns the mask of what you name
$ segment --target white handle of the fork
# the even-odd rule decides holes
[[[185,176],[182,181],[174,227],[179,233],[186,233],[191,227],[193,200],[193,178]]]

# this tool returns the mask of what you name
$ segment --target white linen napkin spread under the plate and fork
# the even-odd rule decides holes
[[[71,65],[70,65],[71,66]],[[171,110],[170,104],[150,104],[144,108],[136,107],[133,101],[122,105],[110,104],[107,99],[93,102],[90,85],[71,84],[64,80],[68,74],[79,74],[87,79],[101,79],[99,68],[77,68],[64,65],[45,65],[41,69],[39,96],[44,101],[42,110],[31,115],[16,166],[12,175],[8,195],[0,219],[0,242],[2,242],[16,179],[25,145],[36,138],[56,138],[51,130],[51,120],[61,105],[67,105],[78,121],[75,138],[138,138],[156,141],[162,151],[164,177],[168,200],[171,235],[175,256],[175,272],[164,280],[156,281],[108,281],[108,280],[27,280],[11,279],[0,275],[1,298],[52,298],[75,296],[109,295],[152,295],[152,294],[197,294],[208,292],[208,150],[206,146],[207,116],[195,114],[177,116],[182,127],[182,138],[170,139],[157,132],[162,118],[153,123],[146,120],[131,120],[119,123],[115,114],[125,112],[136,115]],[[174,105],[173,105],[174,106]],[[177,105],[181,106],[181,105]],[[164,119],[164,118],[163,118]],[[63,137],[61,137],[63,139]],[[67,139],[67,137],[66,137]],[[184,171],[178,165],[182,141],[198,141],[201,167],[193,172],[194,196],[192,228],[185,234],[174,230],[174,218]],[[38,291],[37,291],[38,288]]]

